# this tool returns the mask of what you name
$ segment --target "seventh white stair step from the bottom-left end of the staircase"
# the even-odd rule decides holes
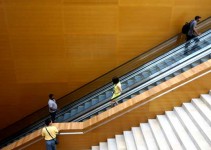
[[[157,143],[152,135],[152,131],[148,123],[141,123],[141,130],[148,149],[158,150]]]

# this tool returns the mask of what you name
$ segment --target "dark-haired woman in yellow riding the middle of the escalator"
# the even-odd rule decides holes
[[[121,85],[121,82],[119,81],[118,77],[113,77],[112,78],[112,82],[114,84],[114,90],[113,90],[113,95],[111,97],[111,102],[112,102],[112,104],[116,103],[116,105],[117,105],[118,102],[117,102],[116,97],[121,95],[121,93],[122,93],[122,85]]]

